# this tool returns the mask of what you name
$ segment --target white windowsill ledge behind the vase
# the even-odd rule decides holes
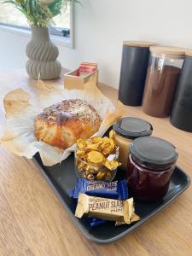
[[[21,36],[24,36],[27,38],[31,37],[30,30],[22,29],[22,28],[18,28],[18,27],[14,27],[14,26],[0,25],[0,31],[14,33],[14,34],[21,35]],[[73,48],[73,38],[64,38],[64,37],[56,36],[56,35],[50,35],[50,37],[53,40],[53,42],[57,45],[66,46],[68,48]]]

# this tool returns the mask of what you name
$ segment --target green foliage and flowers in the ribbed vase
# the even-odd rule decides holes
[[[67,7],[67,3],[78,0],[6,0],[0,3],[14,4],[29,22],[30,26],[49,26],[54,23],[53,18],[61,14],[61,9]]]

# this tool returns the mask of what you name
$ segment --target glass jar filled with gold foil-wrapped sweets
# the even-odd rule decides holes
[[[75,152],[76,170],[89,180],[111,181],[121,165],[118,156],[119,148],[111,137],[80,138]]]

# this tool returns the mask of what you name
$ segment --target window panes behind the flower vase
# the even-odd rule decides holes
[[[54,18],[55,24],[49,26],[50,33],[64,38],[72,38],[73,3],[68,3],[61,15]],[[0,25],[11,26],[21,29],[30,29],[26,16],[20,13],[11,3],[4,3],[0,6]]]

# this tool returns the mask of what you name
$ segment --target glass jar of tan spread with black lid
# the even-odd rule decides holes
[[[113,124],[113,140],[119,146],[121,169],[127,169],[130,144],[137,137],[150,136],[153,126],[143,119],[125,117]]]

